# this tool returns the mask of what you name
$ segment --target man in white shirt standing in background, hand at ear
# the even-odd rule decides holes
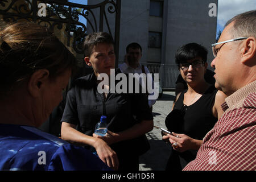
[[[121,70],[122,73],[145,73],[146,76],[150,71],[148,71],[147,67],[139,63],[142,57],[142,48],[138,43],[130,43],[126,47],[126,55],[125,55],[125,63],[118,65],[118,68]],[[152,89],[154,89],[154,80],[152,81]],[[148,82],[147,82],[148,83]],[[148,93],[149,95],[154,95],[153,93]],[[155,104],[156,100],[150,99],[148,97],[148,105],[152,111],[152,106]]]

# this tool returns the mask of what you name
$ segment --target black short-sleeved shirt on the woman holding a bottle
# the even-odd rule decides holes
[[[121,73],[119,69],[115,72]],[[127,130],[142,120],[153,119],[147,104],[147,94],[108,93],[105,98],[103,94],[98,93],[96,80],[94,73],[76,80],[75,86],[68,92],[62,122],[77,125],[77,130],[92,136],[101,115],[106,115],[108,130],[114,133]],[[118,81],[115,81],[115,84],[117,83]],[[149,146],[144,146],[145,138],[143,135],[110,147],[117,154],[129,151],[129,154],[134,152],[139,155],[148,150]],[[131,151],[131,147],[137,148]]]

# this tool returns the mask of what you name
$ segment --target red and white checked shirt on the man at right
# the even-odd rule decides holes
[[[224,114],[184,171],[256,170],[256,81],[225,101]]]

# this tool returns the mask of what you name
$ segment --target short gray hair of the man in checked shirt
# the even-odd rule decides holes
[[[234,38],[253,36],[256,38],[256,10],[234,16],[230,19],[225,27],[234,22],[232,34]]]

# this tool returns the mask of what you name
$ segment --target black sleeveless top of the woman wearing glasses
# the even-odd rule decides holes
[[[166,127],[169,131],[185,134],[191,138],[202,140],[218,120],[212,114],[212,107],[217,89],[214,85],[210,86],[203,96],[190,106],[184,106],[183,104],[185,92],[187,92],[187,90],[180,94],[180,97],[174,105],[174,109],[167,115]],[[176,165],[181,169],[184,168],[187,163],[196,158],[196,152],[197,151],[193,150],[185,152],[172,150],[167,169],[170,169],[169,165],[171,165],[171,168]],[[177,155],[180,156],[180,160],[171,159],[177,157]],[[180,164],[174,164],[174,161],[175,163],[180,162]],[[179,167],[176,166],[175,169]]]

